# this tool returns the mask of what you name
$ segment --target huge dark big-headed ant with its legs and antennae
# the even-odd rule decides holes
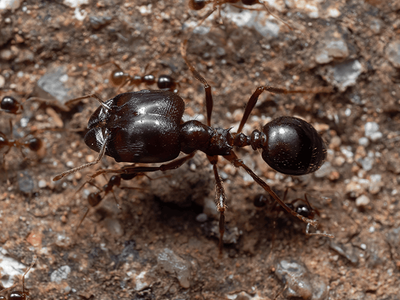
[[[236,156],[233,147],[251,146],[254,151],[261,149],[264,161],[276,171],[284,174],[304,175],[315,172],[326,158],[326,146],[315,128],[308,122],[296,117],[283,116],[264,125],[262,132],[254,130],[251,136],[247,136],[241,131],[259,96],[264,91],[294,94],[330,92],[331,89],[320,87],[313,90],[287,90],[272,86],[259,86],[248,100],[237,132],[232,133],[232,128],[223,129],[211,126],[214,102],[211,86],[187,59],[186,46],[187,40],[181,45],[182,57],[193,76],[203,84],[205,89],[207,124],[197,120],[184,122],[182,116],[185,103],[179,95],[171,91],[128,92],[105,102],[95,94],[72,99],[68,102],[95,98],[100,103],[88,121],[88,132],[84,137],[86,145],[99,154],[93,162],[67,170],[55,176],[53,181],[96,165],[105,155],[114,158],[116,162],[133,164],[125,165],[120,169],[100,169],[90,176],[91,179],[100,174],[113,173],[120,179],[125,179],[127,176],[127,180],[129,180],[141,174],[177,169],[189,161],[196,151],[202,151],[212,165],[215,178],[215,204],[220,214],[220,254],[223,247],[227,206],[225,190],[217,168],[219,156],[231,162],[235,167],[243,168],[288,213],[317,227],[316,220],[304,217],[287,206],[264,180]],[[180,152],[185,155],[177,158]],[[164,164],[137,166],[137,163]],[[328,236],[325,233],[317,234]]]

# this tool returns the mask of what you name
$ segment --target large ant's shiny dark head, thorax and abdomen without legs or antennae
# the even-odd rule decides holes
[[[229,155],[233,146],[262,149],[273,169],[289,175],[316,171],[326,156],[314,127],[295,117],[277,118],[250,137],[213,128],[199,121],[183,122],[185,104],[169,91],[130,92],[100,106],[89,120],[85,143],[117,162],[154,163],[200,150],[209,156]]]

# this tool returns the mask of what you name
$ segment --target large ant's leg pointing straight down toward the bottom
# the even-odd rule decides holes
[[[217,162],[218,162],[218,156],[207,156],[208,160],[213,166],[213,171],[214,171],[214,178],[215,178],[215,205],[217,206],[217,210],[220,213],[219,216],[219,254],[222,254],[222,247],[224,245],[223,242],[223,237],[224,237],[224,232],[225,232],[225,209],[226,209],[226,196],[225,196],[225,190],[224,186],[222,184],[221,177],[218,174],[218,169],[217,169]]]

